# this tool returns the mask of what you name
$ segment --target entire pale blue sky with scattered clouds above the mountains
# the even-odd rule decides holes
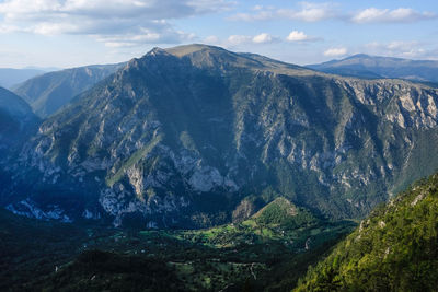
[[[204,43],[306,65],[438,59],[438,1],[0,0],[0,67],[77,67]]]

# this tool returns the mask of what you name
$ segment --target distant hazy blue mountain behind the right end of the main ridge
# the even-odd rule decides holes
[[[342,60],[308,65],[326,73],[358,78],[396,78],[438,82],[438,61],[354,55]]]

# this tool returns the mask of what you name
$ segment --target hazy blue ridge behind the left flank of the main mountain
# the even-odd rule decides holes
[[[49,72],[18,84],[13,91],[27,101],[39,117],[47,117],[123,66],[95,65]]]

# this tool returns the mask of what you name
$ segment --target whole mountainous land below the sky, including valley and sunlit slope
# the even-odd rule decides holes
[[[0,87],[0,290],[434,291],[434,62],[321,66],[187,45]]]

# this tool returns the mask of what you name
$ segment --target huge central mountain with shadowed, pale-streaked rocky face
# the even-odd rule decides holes
[[[45,120],[14,167],[26,191],[3,196],[150,227],[231,221],[249,196],[362,217],[438,165],[437,103],[437,90],[400,80],[155,48]]]

